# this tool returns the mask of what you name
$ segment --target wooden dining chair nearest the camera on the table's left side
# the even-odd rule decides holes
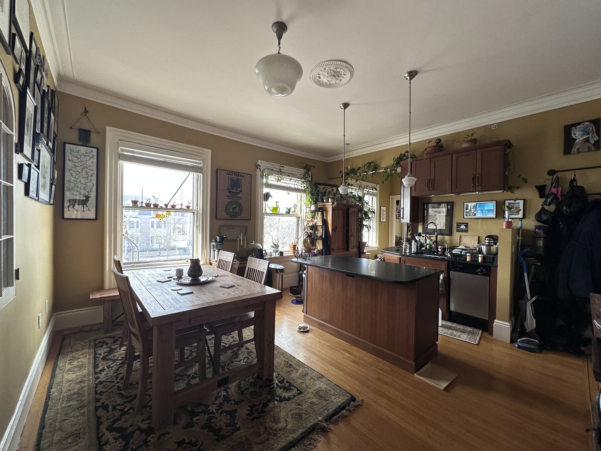
[[[122,389],[129,388],[129,379],[132,375],[133,362],[139,358],[140,360],[140,380],[138,383],[138,397],[136,397],[135,412],[140,413],[144,405],[144,396],[146,386],[150,374],[148,373],[148,359],[153,353],[153,336],[152,328],[142,318],[141,311],[138,310],[138,296],[132,289],[129,281],[129,276],[121,274],[117,268],[113,269],[117,289],[123,303],[125,318],[129,327],[127,336],[127,366],[125,376],[123,378]],[[195,325],[186,329],[175,332],[175,348],[180,350],[179,360],[173,370],[187,366],[189,364],[198,363],[198,377],[202,381],[207,378],[206,373],[206,358],[204,351],[204,339],[206,330],[203,325]],[[196,345],[196,356],[184,360],[182,350],[186,346]],[[136,351],[138,355],[136,355]]]

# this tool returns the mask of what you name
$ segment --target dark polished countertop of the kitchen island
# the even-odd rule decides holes
[[[426,277],[442,274],[443,272],[440,269],[399,265],[398,263],[340,255],[318,256],[313,257],[311,260],[293,259],[292,262],[398,284],[414,283]]]

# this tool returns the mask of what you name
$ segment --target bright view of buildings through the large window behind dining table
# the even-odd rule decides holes
[[[198,218],[195,191],[200,175],[129,162],[122,164],[123,263],[193,257]],[[140,201],[142,206],[133,206],[132,200]],[[150,207],[143,206],[147,203]]]

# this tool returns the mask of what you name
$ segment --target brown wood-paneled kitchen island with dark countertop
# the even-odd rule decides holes
[[[304,321],[415,373],[438,352],[442,271],[344,256],[307,266]]]

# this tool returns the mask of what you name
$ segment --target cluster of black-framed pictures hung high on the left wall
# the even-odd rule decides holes
[[[18,176],[25,195],[52,205],[56,186],[58,96],[47,85],[48,61],[29,30],[28,0],[5,2],[0,14],[0,44],[17,63],[14,83],[20,91],[17,150],[25,157]]]

